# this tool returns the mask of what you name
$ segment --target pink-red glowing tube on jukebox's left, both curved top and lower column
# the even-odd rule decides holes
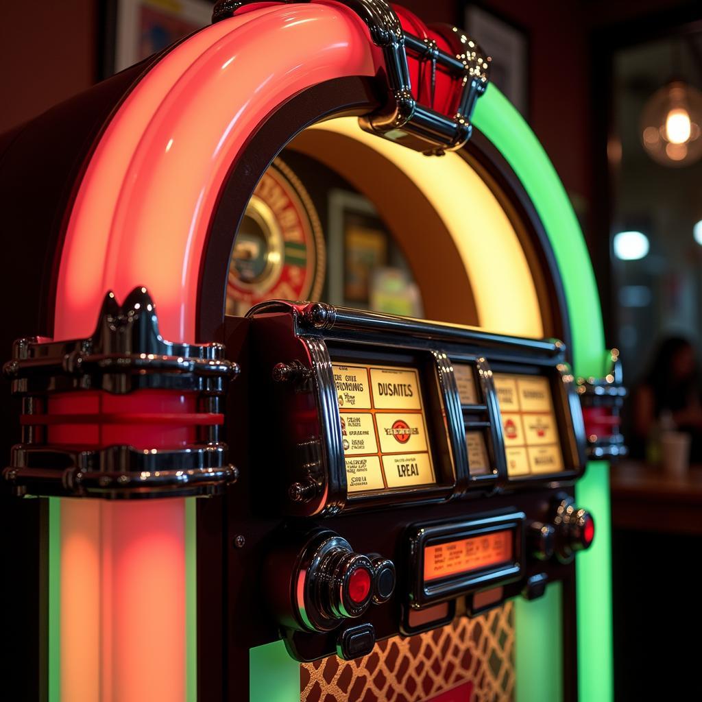
[[[107,291],[121,301],[146,286],[164,338],[194,341],[208,225],[249,136],[305,88],[371,76],[379,61],[363,22],[332,2],[260,4],[166,53],[87,164],[60,261],[55,339],[88,336]],[[159,445],[157,431],[142,439]],[[62,501],[62,699],[185,698],[184,504]]]

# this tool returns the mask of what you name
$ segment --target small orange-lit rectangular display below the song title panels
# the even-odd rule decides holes
[[[503,529],[425,546],[425,583],[510,562],[514,558],[513,534],[513,529]]]

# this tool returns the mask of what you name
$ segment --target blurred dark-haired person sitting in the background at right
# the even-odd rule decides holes
[[[700,373],[689,340],[669,336],[658,343],[649,371],[634,392],[631,410],[635,453],[645,452],[649,462],[657,463],[661,430],[678,430],[691,436],[690,460],[702,461]]]

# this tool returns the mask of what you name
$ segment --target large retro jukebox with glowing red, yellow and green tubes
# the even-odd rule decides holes
[[[4,139],[41,698],[611,698],[616,354],[489,63],[225,0]]]

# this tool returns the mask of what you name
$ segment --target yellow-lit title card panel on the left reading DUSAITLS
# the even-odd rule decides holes
[[[436,482],[413,368],[333,364],[349,493]]]

